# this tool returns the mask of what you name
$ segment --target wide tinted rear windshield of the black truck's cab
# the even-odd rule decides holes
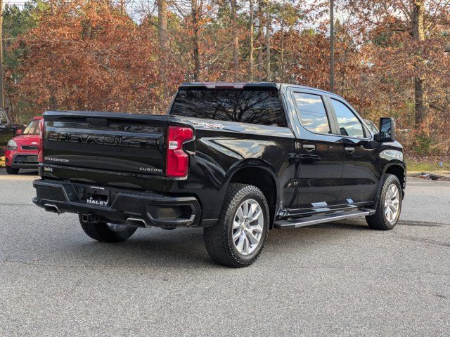
[[[278,91],[180,90],[172,115],[287,126]]]

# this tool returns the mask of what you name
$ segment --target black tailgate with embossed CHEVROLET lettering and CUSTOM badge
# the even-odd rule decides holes
[[[46,165],[165,176],[166,116],[46,112],[44,119]]]

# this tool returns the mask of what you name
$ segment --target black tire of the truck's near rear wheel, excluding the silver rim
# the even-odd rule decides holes
[[[246,200],[257,201],[261,207],[264,223],[255,250],[248,255],[242,255],[233,242],[233,220],[238,207]],[[206,250],[214,262],[238,268],[251,265],[257,260],[266,242],[268,231],[269,206],[261,190],[252,185],[231,183],[226,191],[218,223],[212,227],[205,227],[203,237]]]

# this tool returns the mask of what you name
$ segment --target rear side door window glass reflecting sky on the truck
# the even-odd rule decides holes
[[[330,133],[330,123],[321,96],[310,93],[294,93],[294,100],[297,110],[300,112],[302,126],[309,131]]]

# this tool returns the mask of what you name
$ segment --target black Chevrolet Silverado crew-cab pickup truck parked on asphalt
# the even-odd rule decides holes
[[[101,242],[204,227],[231,267],[253,263],[272,228],[365,216],[390,230],[404,197],[392,119],[373,133],[343,98],[305,86],[182,84],[165,115],[49,111],[41,129],[37,206],[77,213]]]

